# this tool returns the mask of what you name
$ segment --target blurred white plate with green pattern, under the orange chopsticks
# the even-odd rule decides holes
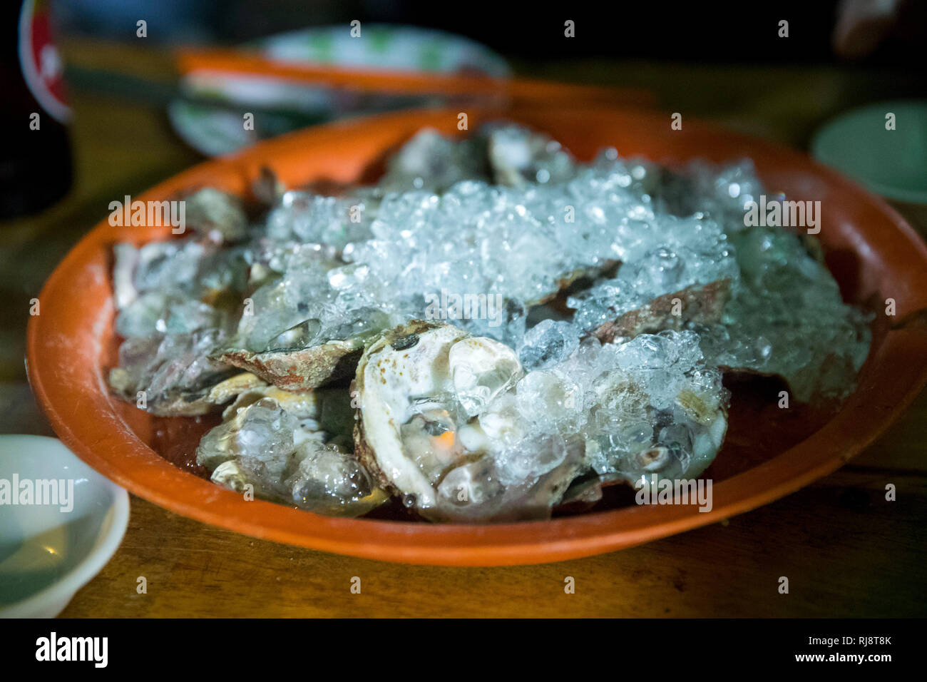
[[[324,26],[274,35],[242,47],[281,63],[393,73],[511,75],[505,59],[484,45],[412,26],[363,24],[356,38],[351,37],[348,25]],[[434,95],[359,93],[207,70],[184,74],[181,91],[184,97],[168,106],[171,125],[186,144],[207,156],[222,156],[259,139],[350,114],[446,101]],[[243,110],[255,114],[255,130],[245,129]]]

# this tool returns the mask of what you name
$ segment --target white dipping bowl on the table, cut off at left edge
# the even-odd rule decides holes
[[[113,556],[128,522],[125,490],[60,441],[0,436],[0,617],[57,616]]]

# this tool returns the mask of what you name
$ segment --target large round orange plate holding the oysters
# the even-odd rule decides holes
[[[197,186],[247,194],[268,165],[293,186],[367,177],[387,150],[424,126],[450,135],[456,110],[411,111],[356,119],[287,135],[231,158],[203,163],[137,199],[165,199]],[[471,129],[500,112],[469,111]],[[824,476],[870,444],[927,380],[927,248],[882,200],[805,155],[686,120],[670,129],[663,114],[618,109],[511,110],[502,115],[545,131],[580,159],[604,146],[655,161],[750,157],[770,191],[820,200],[822,238],[845,295],[894,298],[898,322],[878,335],[859,387],[819,431],[714,485],[714,507],[652,506],[502,525],[431,525],[318,516],[241,495],[182,470],[149,444],[160,427],[109,396],[105,368],[115,358],[110,253],[114,242],[170,237],[170,228],[96,228],[58,265],[29,327],[32,388],[57,434],[78,456],[135,495],[199,521],[303,547],[414,563],[493,565],[565,560],[637,545],[756,508]],[[904,321],[907,320],[907,323]]]

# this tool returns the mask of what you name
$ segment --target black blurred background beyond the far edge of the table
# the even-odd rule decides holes
[[[149,40],[235,43],[352,19],[461,33],[528,59],[649,58],[695,62],[829,63],[837,0],[776,2],[483,2],[481,0],[54,0],[67,32],[126,38],[135,19]],[[865,5],[865,3],[864,3]],[[564,21],[576,22],[565,39]],[[789,21],[789,37],[778,36]],[[856,63],[923,71],[927,2],[900,3],[875,51]],[[881,32],[875,22],[861,31]]]

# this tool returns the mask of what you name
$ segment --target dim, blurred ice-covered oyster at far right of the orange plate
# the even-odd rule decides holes
[[[697,325],[720,367],[781,377],[803,403],[843,399],[869,354],[871,313],[844,303],[806,241],[782,229],[734,234],[740,281],[716,324]]]

